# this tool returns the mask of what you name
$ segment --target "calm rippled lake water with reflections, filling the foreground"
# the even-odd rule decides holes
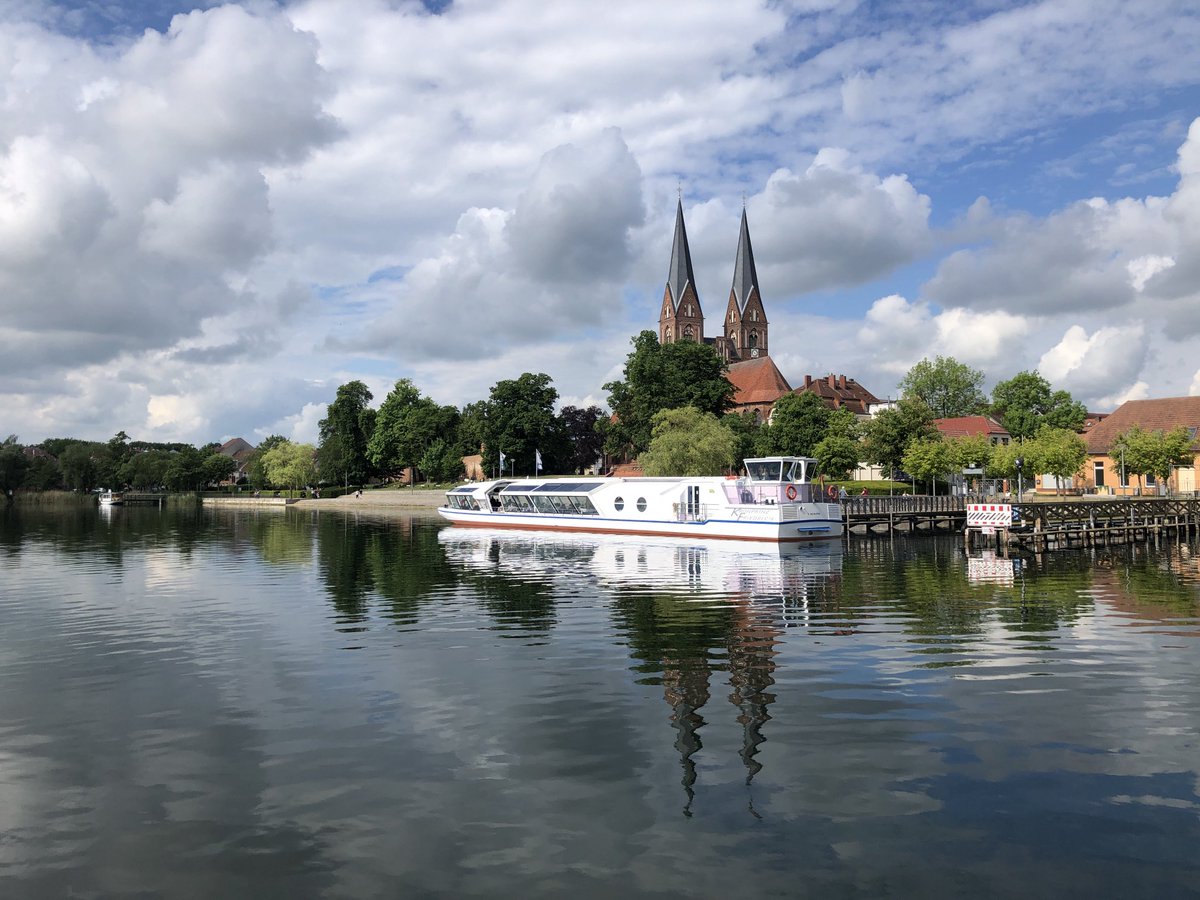
[[[0,518],[0,896],[1200,886],[1178,544]]]

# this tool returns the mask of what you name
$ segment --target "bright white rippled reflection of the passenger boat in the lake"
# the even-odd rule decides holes
[[[738,540],[620,534],[445,528],[446,557],[475,571],[520,578],[570,575],[604,589],[728,596],[805,596],[814,583],[841,574],[841,541],[748,544]]]

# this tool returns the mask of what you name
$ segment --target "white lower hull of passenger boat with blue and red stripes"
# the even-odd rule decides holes
[[[527,532],[575,532],[582,534],[641,534],[661,538],[707,538],[744,541],[818,541],[840,538],[841,518],[814,515],[778,521],[745,521],[714,517],[704,521],[628,520],[602,516],[522,515],[439,506],[438,512],[456,526],[505,528]]]

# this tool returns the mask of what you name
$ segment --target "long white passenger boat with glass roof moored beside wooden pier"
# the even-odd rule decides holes
[[[742,478],[541,478],[462,485],[438,512],[460,526],[804,541],[840,538],[816,460],[745,461]]]

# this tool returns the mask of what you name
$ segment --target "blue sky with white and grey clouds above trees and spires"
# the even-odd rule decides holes
[[[314,443],[337,388],[606,406],[682,198],[709,336],[1200,394],[1193,0],[0,0],[0,436]]]

